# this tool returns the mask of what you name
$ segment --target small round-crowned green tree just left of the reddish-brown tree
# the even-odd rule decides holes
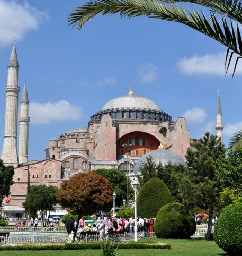
[[[26,196],[23,207],[27,214],[32,217],[37,216],[37,212],[40,212],[43,226],[46,226],[47,211],[54,211],[53,208],[56,201],[56,193],[58,189],[55,186],[32,186],[29,193]],[[45,221],[44,221],[45,219]]]

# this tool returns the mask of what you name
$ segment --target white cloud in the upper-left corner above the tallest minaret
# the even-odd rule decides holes
[[[0,47],[16,40],[23,40],[30,30],[38,28],[40,22],[47,20],[46,12],[31,7],[27,2],[19,4],[12,0],[0,0]]]

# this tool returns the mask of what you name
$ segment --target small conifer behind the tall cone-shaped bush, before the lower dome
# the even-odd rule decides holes
[[[141,175],[136,176],[140,187],[142,187],[142,185],[144,185],[150,178],[157,177],[156,169],[157,165],[152,156],[148,156],[145,162],[142,161],[139,169]]]

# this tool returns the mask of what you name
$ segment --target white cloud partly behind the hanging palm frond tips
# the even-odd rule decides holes
[[[238,55],[234,54],[230,63],[228,74],[234,71],[235,61]],[[226,52],[217,54],[194,55],[190,58],[180,59],[176,64],[182,73],[187,75],[225,75]],[[236,74],[242,74],[241,59],[236,67]]]

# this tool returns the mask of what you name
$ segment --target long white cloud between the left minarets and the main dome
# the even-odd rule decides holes
[[[76,121],[83,117],[83,108],[70,105],[66,100],[56,103],[31,102],[29,107],[32,124],[50,124],[56,121]]]

